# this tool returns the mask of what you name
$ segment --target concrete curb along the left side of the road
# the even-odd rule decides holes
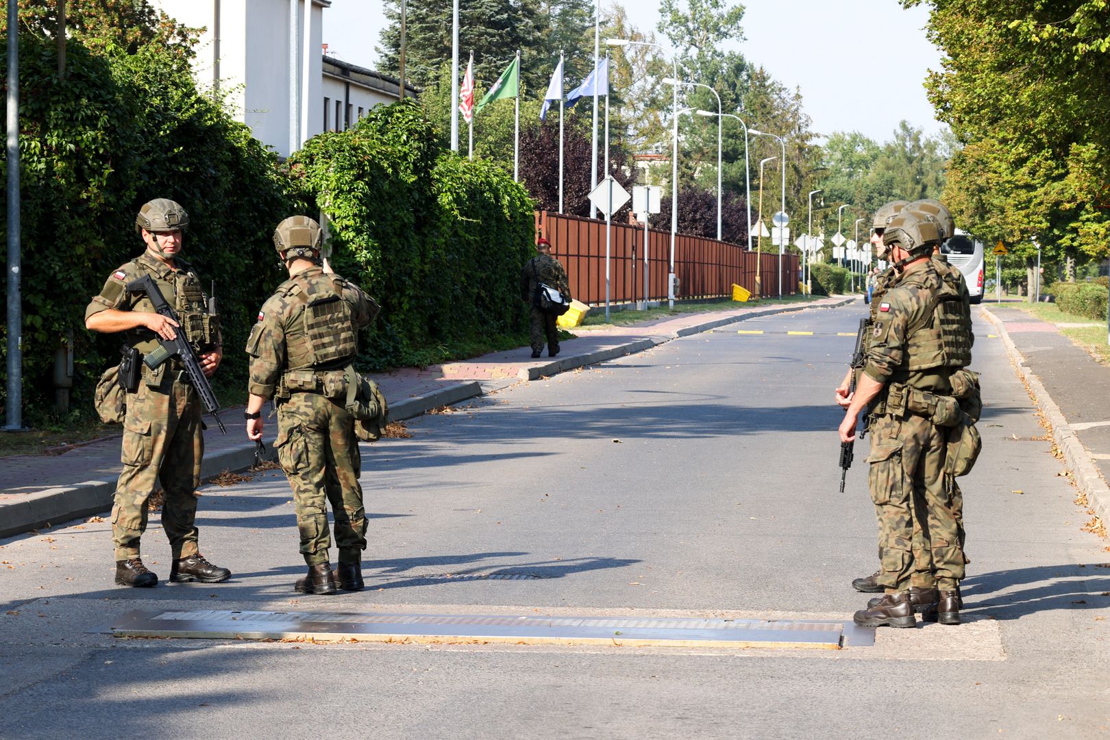
[[[556,375],[576,367],[596,365],[597,363],[625,355],[636,354],[650,349],[672,339],[677,339],[692,334],[707,332],[718,326],[725,326],[748,318],[759,316],[771,316],[775,314],[805,311],[807,308],[836,308],[847,305],[856,297],[846,297],[837,303],[824,306],[810,306],[806,304],[776,306],[774,308],[755,310],[736,316],[717,318],[703,322],[693,326],[680,328],[677,332],[659,334],[646,338],[626,342],[616,346],[587,352],[581,355],[569,355],[554,359],[544,365],[528,367],[517,373],[517,377],[523,381],[536,381],[541,377]],[[401,422],[420,416],[432,408],[438,406],[450,406],[467,398],[481,396],[504,388],[518,381],[498,382],[483,386],[482,383],[470,381],[466,383],[452,383],[437,388],[423,396],[404,398],[390,404],[390,420]],[[239,447],[221,449],[206,454],[201,465],[201,480],[208,481],[219,476],[224,470],[240,473],[246,470],[254,463],[254,444],[244,443]],[[273,448],[266,448],[266,458],[273,459]],[[18,501],[3,501],[0,499],[0,537],[19,535],[47,524],[61,524],[78,517],[91,516],[107,511],[112,506],[112,496],[115,494],[115,480],[87,480],[73,486],[47,488],[28,496],[20,497]]]

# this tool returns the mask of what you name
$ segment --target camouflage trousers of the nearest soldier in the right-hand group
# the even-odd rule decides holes
[[[945,474],[947,429],[910,414],[876,416],[870,430],[868,484],[882,562],[878,584],[888,592],[911,585],[955,589],[963,578],[965,560],[958,488],[956,479]]]

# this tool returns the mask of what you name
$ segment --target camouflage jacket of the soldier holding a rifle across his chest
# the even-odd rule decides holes
[[[185,328],[193,347],[204,352],[219,342],[219,320],[208,314],[208,296],[201,290],[200,278],[181,257],[174,257],[170,266],[144,251],[141,255],[121,265],[104,282],[98,295],[84,310],[84,317],[114,308],[154,313],[154,304],[145,293],[128,293],[128,283],[150,275],[158,285],[162,297],[173,306],[178,321]],[[138,326],[123,333],[123,341],[145,354],[158,346],[158,335],[145,326]]]

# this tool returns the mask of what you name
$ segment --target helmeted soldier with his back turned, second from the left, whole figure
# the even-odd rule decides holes
[[[278,459],[293,488],[301,554],[307,575],[302,594],[363,588],[366,514],[359,475],[362,457],[355,418],[346,407],[354,383],[359,330],[377,305],[359,286],[334,274],[320,257],[320,225],[306,216],[285,219],[274,245],[289,280],[263,304],[246,342],[251,355],[246,433],[262,439],[262,405],[278,407]],[[327,503],[335,519],[339,567],[329,559]]]

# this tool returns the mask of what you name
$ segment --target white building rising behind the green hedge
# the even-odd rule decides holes
[[[228,95],[255,139],[287,156],[322,131],[354,124],[397,99],[396,80],[323,53],[331,0],[152,0],[191,28],[203,28],[193,73]],[[412,97],[414,90],[405,85]]]

